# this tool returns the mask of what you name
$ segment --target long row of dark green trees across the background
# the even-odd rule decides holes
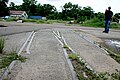
[[[41,5],[40,3],[36,3],[37,0],[23,0],[22,5],[15,5],[11,2],[9,9],[26,11],[29,16],[44,16],[47,17],[47,19],[53,20],[77,20],[78,22],[81,22],[86,19],[89,20],[95,16],[94,11],[90,6],[82,8],[81,6],[78,6],[78,4],[68,2],[63,5],[62,12],[58,12],[56,7],[53,5]],[[97,14],[96,17],[101,19],[101,14]]]

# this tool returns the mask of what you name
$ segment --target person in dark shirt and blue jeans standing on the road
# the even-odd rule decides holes
[[[113,12],[111,11],[111,7],[108,7],[108,10],[105,11],[105,18],[104,18],[105,30],[103,31],[104,33],[109,33],[112,16],[113,16]]]

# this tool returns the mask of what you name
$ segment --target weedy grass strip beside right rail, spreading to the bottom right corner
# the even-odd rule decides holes
[[[79,80],[119,80],[120,71],[116,70],[115,73],[95,73],[90,70],[82,59],[79,59],[77,54],[69,54],[69,58],[73,64],[74,70]]]

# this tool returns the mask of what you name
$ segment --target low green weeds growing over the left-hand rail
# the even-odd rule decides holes
[[[20,60],[21,62],[25,62],[26,58],[18,56],[16,52],[11,52],[10,54],[4,55],[4,57],[0,59],[0,69],[6,68],[14,60]]]

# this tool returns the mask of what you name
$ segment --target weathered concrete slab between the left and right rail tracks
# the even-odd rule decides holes
[[[37,32],[30,51],[14,80],[72,80],[62,48],[51,30]]]

